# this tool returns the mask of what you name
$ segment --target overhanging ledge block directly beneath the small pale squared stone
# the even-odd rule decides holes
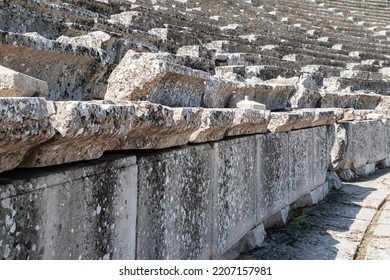
[[[226,136],[249,135],[267,132],[271,112],[254,109],[234,109],[234,119]]]

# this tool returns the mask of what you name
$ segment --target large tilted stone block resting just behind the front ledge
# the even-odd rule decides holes
[[[128,51],[108,79],[106,100],[200,107],[209,74],[178,65],[168,53]]]

